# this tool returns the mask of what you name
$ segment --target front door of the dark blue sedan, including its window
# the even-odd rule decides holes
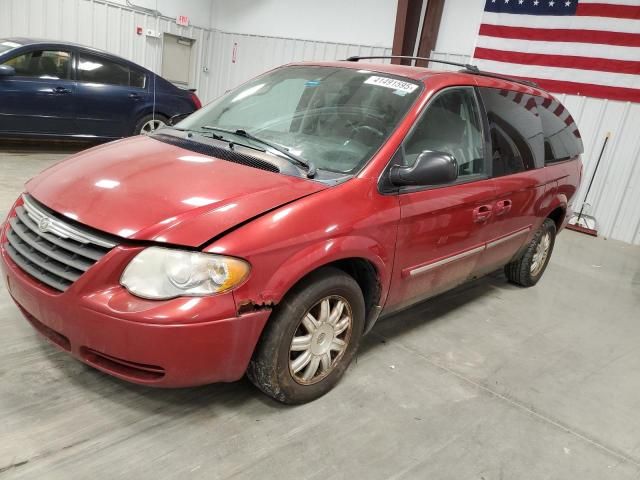
[[[76,86],[71,54],[30,50],[4,62],[15,75],[0,77],[0,131],[69,135],[74,133]]]

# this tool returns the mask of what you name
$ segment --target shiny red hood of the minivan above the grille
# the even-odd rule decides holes
[[[150,137],[81,152],[27,182],[36,200],[84,225],[123,238],[193,247],[325,188]]]

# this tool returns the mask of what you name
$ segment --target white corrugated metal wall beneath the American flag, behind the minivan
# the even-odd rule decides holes
[[[467,63],[467,55],[433,52],[432,58]],[[431,68],[451,70],[432,63]],[[605,136],[611,132],[585,213],[595,216],[600,235],[640,245],[640,104],[577,95],[556,95],[578,124],[585,153],[584,176],[574,208],[584,201]]]

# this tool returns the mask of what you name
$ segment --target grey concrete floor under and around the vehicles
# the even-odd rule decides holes
[[[6,150],[2,215],[67,154]],[[386,320],[333,392],[295,408],[247,381],[113,379],[0,288],[1,480],[640,478],[638,247],[564,232],[537,287],[496,274]]]

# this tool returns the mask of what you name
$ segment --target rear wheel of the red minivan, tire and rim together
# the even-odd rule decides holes
[[[538,283],[549,264],[555,240],[556,224],[547,218],[520,258],[505,265],[504,273],[507,279],[523,287],[532,287]]]

